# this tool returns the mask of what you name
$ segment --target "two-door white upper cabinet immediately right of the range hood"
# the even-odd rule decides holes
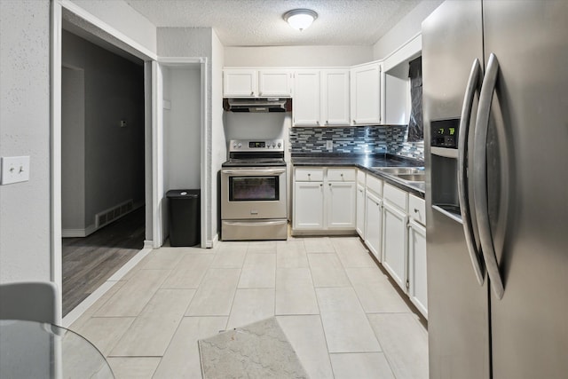
[[[348,69],[296,70],[294,125],[349,125],[349,98]]]

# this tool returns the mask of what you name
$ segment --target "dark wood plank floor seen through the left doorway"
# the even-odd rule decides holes
[[[144,207],[83,238],[64,238],[63,316],[73,310],[144,245]]]

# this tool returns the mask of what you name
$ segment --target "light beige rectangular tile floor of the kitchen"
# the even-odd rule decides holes
[[[201,378],[197,340],[276,316],[312,378],[427,378],[428,336],[359,238],[152,250],[70,326],[117,378]]]

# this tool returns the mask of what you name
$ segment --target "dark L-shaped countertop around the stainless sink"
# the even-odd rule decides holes
[[[376,178],[383,179],[386,183],[404,189],[408,193],[424,198],[424,184],[410,185],[406,182],[384,174],[375,167],[423,167],[424,162],[412,158],[401,157],[391,154],[292,154],[294,166],[352,166],[367,171]]]

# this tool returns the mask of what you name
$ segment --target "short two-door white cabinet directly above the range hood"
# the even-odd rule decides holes
[[[225,98],[289,98],[292,74],[287,69],[226,68],[223,70]]]

